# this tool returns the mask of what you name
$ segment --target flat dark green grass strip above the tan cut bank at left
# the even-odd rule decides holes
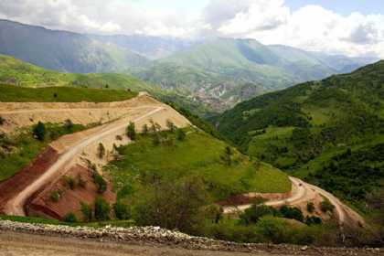
[[[132,99],[131,91],[100,90],[69,87],[22,88],[0,85],[0,101],[3,102],[110,102]]]

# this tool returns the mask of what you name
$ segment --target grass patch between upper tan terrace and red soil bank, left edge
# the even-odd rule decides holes
[[[21,133],[5,135],[0,134],[0,181],[14,176],[53,140],[67,133],[76,133],[87,127],[75,124],[70,129],[60,124],[46,124],[47,137],[41,142],[35,139],[31,129],[26,128]]]

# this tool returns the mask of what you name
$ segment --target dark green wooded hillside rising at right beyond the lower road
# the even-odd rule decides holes
[[[384,185],[383,81],[379,61],[242,102],[216,122],[243,151],[362,207]]]

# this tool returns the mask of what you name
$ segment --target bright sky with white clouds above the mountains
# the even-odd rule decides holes
[[[384,59],[383,0],[0,0],[0,17],[98,34],[255,38]]]

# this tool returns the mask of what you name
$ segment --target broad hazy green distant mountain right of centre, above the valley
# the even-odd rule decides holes
[[[339,59],[337,63],[335,59]],[[193,93],[221,107],[249,100],[306,80],[320,80],[355,69],[369,60],[332,57],[253,39],[216,38],[156,60],[135,73],[164,88]]]

